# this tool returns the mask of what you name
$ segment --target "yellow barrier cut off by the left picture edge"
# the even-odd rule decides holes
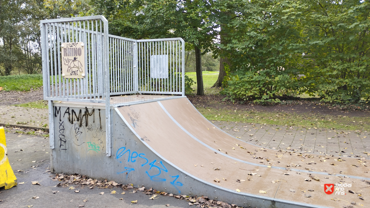
[[[0,127],[0,187],[9,189],[15,185],[17,178],[9,164],[4,127]]]

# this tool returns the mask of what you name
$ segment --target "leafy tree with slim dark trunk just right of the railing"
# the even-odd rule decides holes
[[[196,72],[198,95],[203,95],[201,49],[208,52],[218,26],[209,20],[214,15],[211,1],[204,0],[99,0],[92,13],[104,14],[110,21],[110,33],[142,38],[182,37],[198,48]]]

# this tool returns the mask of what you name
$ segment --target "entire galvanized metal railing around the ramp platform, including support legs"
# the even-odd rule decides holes
[[[108,34],[104,16],[41,20],[44,100],[105,103],[107,156],[111,155],[110,96],[185,95],[185,43],[182,38],[134,40]],[[83,42],[83,78],[64,78],[62,43]],[[64,63],[65,64],[65,63]],[[50,148],[54,149],[54,120]]]

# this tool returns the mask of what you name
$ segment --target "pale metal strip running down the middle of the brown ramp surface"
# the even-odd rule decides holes
[[[168,111],[166,110],[166,108],[162,105],[162,103],[160,101],[157,101],[157,103],[161,106],[161,108],[165,111],[165,113],[168,115],[169,118],[171,118],[172,121],[174,121],[174,123],[176,125],[178,125],[178,127],[180,127],[183,131],[185,131],[186,134],[188,134],[190,137],[192,137],[194,140],[198,141],[199,143],[201,143],[202,145],[204,145],[205,147],[208,147],[209,149],[225,156],[225,157],[228,157],[230,159],[233,159],[233,160],[236,160],[236,161],[239,161],[239,162],[243,162],[243,163],[246,163],[246,164],[249,164],[249,165],[255,165],[255,166],[259,166],[259,167],[266,167],[268,168],[267,165],[261,165],[261,164],[256,164],[256,163],[253,163],[253,162],[247,162],[247,161],[244,161],[244,160],[240,160],[238,158],[235,158],[235,157],[232,157],[228,154],[225,154],[223,152],[219,152],[218,150],[212,148],[211,146],[209,146],[208,144],[205,144],[204,142],[202,142],[201,140],[199,140],[198,138],[196,138],[194,135],[192,135],[189,131],[187,131],[184,127],[182,127],[175,119],[174,117],[172,117],[171,114],[168,113]],[[213,125],[213,124],[212,124]],[[276,168],[276,169],[280,169],[280,170],[286,170],[286,168],[284,167],[275,167],[275,166],[272,166],[271,168]],[[292,169],[290,168],[290,170],[293,170],[293,171],[298,171],[298,172],[306,172],[306,173],[314,173],[314,174],[321,174],[321,175],[329,175],[327,173],[324,173],[324,172],[317,172],[317,171],[306,171],[306,170],[299,170],[299,169]],[[350,178],[357,178],[357,179],[364,179],[364,180],[370,180],[370,178],[365,178],[365,177],[358,177],[358,176],[353,176],[353,175],[343,175],[343,174],[338,174],[339,176],[346,176],[346,177],[350,177]],[[338,176],[336,175],[336,176]]]

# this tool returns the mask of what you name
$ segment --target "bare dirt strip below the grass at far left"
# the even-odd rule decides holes
[[[43,88],[31,91],[0,91],[0,105],[13,105],[44,100]]]

